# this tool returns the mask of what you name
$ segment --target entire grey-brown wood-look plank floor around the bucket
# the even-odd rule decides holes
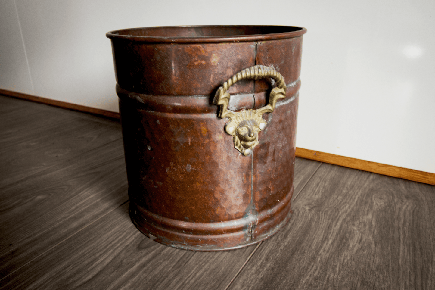
[[[294,215],[191,252],[128,216],[120,123],[0,96],[1,289],[435,289],[435,186],[296,159]]]

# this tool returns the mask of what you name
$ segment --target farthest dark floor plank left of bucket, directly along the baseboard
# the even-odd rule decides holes
[[[0,190],[108,142],[122,143],[117,121],[0,97],[3,110],[15,103],[23,104],[20,114],[0,114]]]

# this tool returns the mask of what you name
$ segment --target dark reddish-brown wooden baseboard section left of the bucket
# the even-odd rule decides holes
[[[103,117],[108,117],[108,118],[119,119],[119,113],[117,113],[117,112],[112,112],[112,111],[107,111],[107,110],[102,110],[102,109],[97,109],[97,108],[92,108],[92,107],[87,107],[87,106],[82,106],[82,105],[71,104],[71,103],[67,103],[67,102],[63,102],[63,101],[57,101],[57,100],[37,97],[37,96],[33,96],[31,94],[18,93],[16,91],[8,91],[8,90],[0,89],[0,94],[6,95],[9,97],[13,97],[13,98],[19,98],[19,99],[23,99],[23,100],[27,100],[27,101],[33,101],[33,102],[37,102],[37,103],[41,103],[41,104],[46,104],[46,105],[50,105],[50,106],[54,106],[54,107],[65,108],[65,109],[80,111],[80,112],[86,112],[86,113],[90,113],[92,115],[98,115],[98,116],[103,116]]]

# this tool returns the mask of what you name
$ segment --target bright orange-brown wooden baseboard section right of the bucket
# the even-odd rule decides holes
[[[388,175],[392,177],[398,177],[416,182],[423,182],[435,185],[435,173],[382,164],[378,162],[371,162],[304,148],[296,148],[296,156],[311,160],[317,160],[320,162],[345,166],[353,169],[359,169],[382,175]]]

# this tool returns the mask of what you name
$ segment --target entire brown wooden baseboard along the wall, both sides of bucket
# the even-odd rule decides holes
[[[115,119],[120,118],[119,113],[116,112],[71,104],[63,101],[51,100],[47,98],[33,96],[30,94],[23,94],[15,91],[8,91],[2,89],[0,89],[0,94],[7,95],[13,98],[20,98],[28,101],[34,101],[37,103],[51,105],[59,108],[66,108],[74,111],[86,112],[93,115],[99,115],[99,116],[115,118]],[[435,174],[430,172],[407,169],[403,167],[371,162],[371,161],[345,157],[341,155],[335,155],[335,154],[330,154],[330,153],[325,153],[320,151],[314,151],[314,150],[309,150],[304,148],[296,148],[296,156],[301,158],[321,161],[325,163],[330,163],[334,165],[345,166],[353,169],[359,169],[359,170],[374,172],[382,175],[388,175],[392,177],[398,177],[402,179],[435,185]]]

